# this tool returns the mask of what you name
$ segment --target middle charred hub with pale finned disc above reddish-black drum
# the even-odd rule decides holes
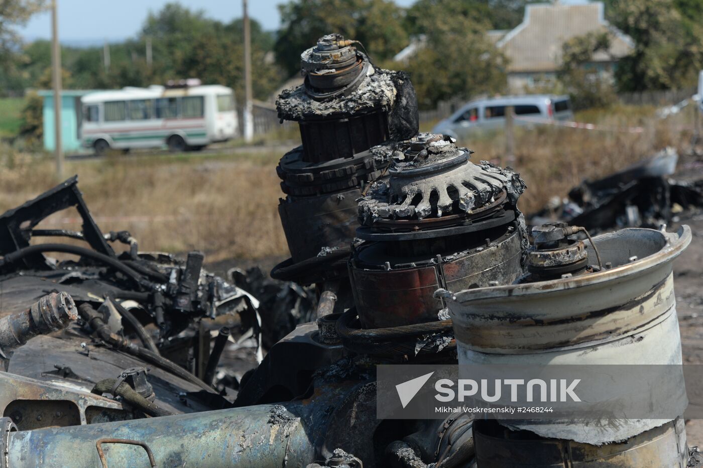
[[[444,316],[439,288],[508,284],[522,275],[527,236],[518,174],[449,137],[419,134],[399,144],[389,181],[359,202],[365,240],[349,266],[356,312],[367,328],[434,322]]]

